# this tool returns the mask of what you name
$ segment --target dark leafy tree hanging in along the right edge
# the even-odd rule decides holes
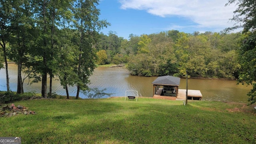
[[[226,30],[243,28],[244,36],[238,50],[238,60],[241,65],[238,82],[253,86],[247,95],[249,104],[254,104],[256,102],[256,3],[255,0],[228,0],[226,5],[234,3],[238,7],[231,20],[235,21],[236,25]]]

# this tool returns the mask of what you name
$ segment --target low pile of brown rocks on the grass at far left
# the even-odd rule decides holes
[[[17,107],[14,106],[14,104],[12,104],[10,107],[7,106],[3,106],[2,108],[0,108],[0,117],[2,116],[7,116],[7,117],[11,117],[11,116],[15,116],[17,114],[35,114],[34,111],[28,110],[28,108],[18,105]]]

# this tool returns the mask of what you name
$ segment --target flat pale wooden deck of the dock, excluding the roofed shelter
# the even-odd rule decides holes
[[[176,96],[161,96],[162,88],[154,94],[153,98],[168,99],[168,100],[186,100],[186,90],[178,89],[178,95]],[[200,90],[188,90],[188,100],[202,100],[202,94]]]

